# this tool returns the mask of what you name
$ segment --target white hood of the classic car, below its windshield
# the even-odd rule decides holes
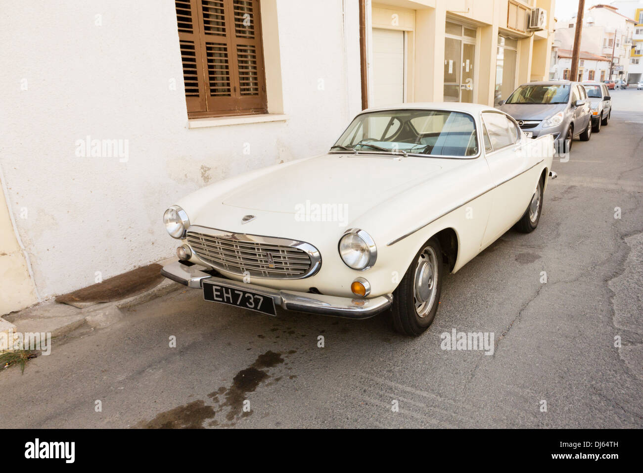
[[[222,205],[296,214],[314,206],[350,207],[355,217],[378,202],[424,181],[442,167],[432,158],[327,154],[248,181],[222,196]]]

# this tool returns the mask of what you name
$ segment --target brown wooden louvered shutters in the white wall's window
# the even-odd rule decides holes
[[[258,0],[176,0],[176,11],[188,116],[266,113]]]

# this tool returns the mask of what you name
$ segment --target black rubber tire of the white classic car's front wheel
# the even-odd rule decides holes
[[[427,248],[431,248],[433,255],[435,255],[435,273],[433,273],[433,265],[431,265],[431,255],[425,253]],[[425,257],[420,261],[422,256]],[[432,280],[433,284],[435,284],[435,292],[433,292],[433,285],[431,284],[428,286],[428,289],[425,288],[433,294],[431,301],[422,301],[421,299],[416,299],[415,277],[418,273],[419,266],[423,265],[424,268],[426,268],[427,262],[431,266],[431,274],[437,274],[437,277],[428,280]],[[411,265],[408,270],[406,270],[406,274],[404,274],[402,281],[400,281],[399,286],[397,286],[397,289],[395,289],[393,293],[391,315],[395,331],[403,335],[408,335],[409,337],[418,337],[430,327],[440,304],[443,275],[444,260],[442,257],[442,246],[440,246],[438,239],[433,237],[422,245],[422,248],[420,248],[413,258]],[[421,304],[420,309],[423,317],[419,315],[416,304]]]

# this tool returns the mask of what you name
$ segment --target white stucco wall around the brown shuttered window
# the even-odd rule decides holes
[[[187,129],[174,1],[3,2],[0,166],[41,297],[170,257],[161,216],[180,196],[327,150],[361,108],[343,3],[277,0],[289,120]],[[76,156],[87,135],[128,140],[129,160]]]

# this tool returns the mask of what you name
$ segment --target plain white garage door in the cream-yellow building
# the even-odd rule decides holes
[[[404,32],[373,29],[373,79],[370,107],[404,102]]]

